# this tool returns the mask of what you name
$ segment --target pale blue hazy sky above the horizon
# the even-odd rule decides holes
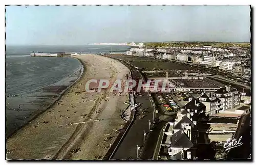
[[[250,41],[249,6],[6,6],[7,45]]]

